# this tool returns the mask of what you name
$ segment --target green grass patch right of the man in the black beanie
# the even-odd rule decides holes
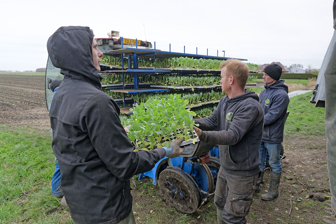
[[[312,92],[308,92],[290,99],[289,115],[285,123],[286,137],[306,137],[325,135],[325,108],[315,107],[309,103]]]

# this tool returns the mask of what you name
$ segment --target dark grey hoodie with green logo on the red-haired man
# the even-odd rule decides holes
[[[209,117],[195,120],[203,130],[200,141],[219,145],[220,164],[238,176],[260,171],[264,114],[258,100],[257,94],[249,90],[231,99],[225,96]]]

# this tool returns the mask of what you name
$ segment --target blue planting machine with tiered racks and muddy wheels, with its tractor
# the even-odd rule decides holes
[[[204,69],[204,68],[157,68],[157,67],[140,67],[138,57],[151,58],[155,61],[157,58],[178,58],[186,57],[193,59],[215,59],[226,60],[227,57],[208,56],[197,54],[177,53],[169,51],[156,50],[155,42],[154,49],[151,49],[152,44],[146,41],[113,38],[118,36],[118,32],[112,31],[110,38],[97,38],[98,48],[104,55],[111,57],[120,57],[121,66],[113,66],[101,64],[101,76],[113,73],[121,74],[122,80],[115,84],[104,84],[103,89],[107,92],[122,93],[121,99],[114,99],[120,106],[120,112],[126,115],[132,114],[130,108],[136,103],[136,98],[125,97],[125,94],[137,93],[174,93],[175,91],[217,91],[221,92],[220,85],[205,86],[199,85],[194,87],[172,87],[158,86],[155,83],[140,83],[139,75],[149,74],[155,75],[219,75],[220,70]],[[127,67],[124,66],[124,59],[127,60]],[[246,60],[246,59],[240,59]],[[61,80],[63,76],[59,73],[60,69],[55,68],[48,58],[45,91],[47,109],[50,108],[52,92],[49,89],[49,84],[54,79]],[[124,77],[130,74],[133,77],[133,83],[125,83]],[[218,84],[218,83],[217,83]],[[128,95],[129,96],[129,95]],[[197,105],[189,105],[188,108],[202,108],[204,105],[216,106],[219,99],[209,102],[202,101]],[[128,105],[127,105],[128,104]],[[131,105],[131,106],[129,106]],[[220,167],[218,147],[197,142],[196,144],[185,145],[185,152],[182,156],[170,159],[165,157],[161,159],[155,167],[145,173],[140,174],[139,180],[150,177],[153,179],[153,184],[159,186],[160,196],[171,206],[184,213],[193,213],[200,206],[205,204],[214,194],[216,187],[216,179]]]

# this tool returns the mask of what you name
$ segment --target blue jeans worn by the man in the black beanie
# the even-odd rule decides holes
[[[282,172],[282,165],[280,161],[280,151],[281,151],[281,143],[267,143],[261,142],[259,148],[260,154],[260,169],[263,172],[266,166],[266,152],[269,154],[268,164],[274,173]]]

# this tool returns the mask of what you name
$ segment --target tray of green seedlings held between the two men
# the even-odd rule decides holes
[[[152,97],[136,104],[126,120],[127,125],[131,125],[127,134],[135,150],[169,147],[170,142],[179,137],[184,137],[180,146],[195,145],[199,141],[193,129],[196,113],[186,110],[187,104],[179,94]]]

